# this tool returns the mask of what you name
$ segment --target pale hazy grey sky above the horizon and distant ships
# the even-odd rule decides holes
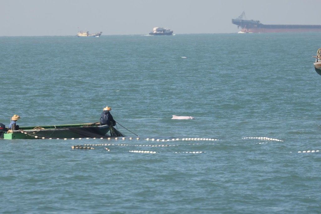
[[[0,36],[236,33],[245,11],[263,24],[321,24],[317,0],[0,0]]]

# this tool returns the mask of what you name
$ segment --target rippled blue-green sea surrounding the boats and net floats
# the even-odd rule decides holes
[[[321,213],[320,47],[316,32],[0,37],[0,123],[108,106],[126,135],[0,140],[0,213]]]

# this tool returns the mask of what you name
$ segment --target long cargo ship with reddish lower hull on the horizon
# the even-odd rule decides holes
[[[244,20],[243,12],[237,19],[232,19],[232,24],[241,27],[240,33],[282,33],[282,32],[319,32],[321,25],[281,25],[262,24],[256,20]]]

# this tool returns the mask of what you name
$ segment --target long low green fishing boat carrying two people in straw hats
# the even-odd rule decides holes
[[[21,126],[19,130],[0,128],[0,139],[75,139],[123,137],[115,127],[98,123]]]

